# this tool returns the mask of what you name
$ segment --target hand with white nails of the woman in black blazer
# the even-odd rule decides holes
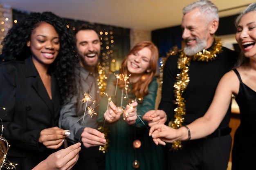
[[[57,149],[64,141],[64,138],[70,135],[69,130],[63,130],[57,126],[43,129],[40,132],[39,142],[43,143],[46,148]]]

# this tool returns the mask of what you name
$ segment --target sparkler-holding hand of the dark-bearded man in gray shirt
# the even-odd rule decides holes
[[[86,127],[81,134],[81,142],[85,148],[106,144],[105,134],[97,129]]]

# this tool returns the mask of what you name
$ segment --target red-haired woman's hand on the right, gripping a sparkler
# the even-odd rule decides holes
[[[124,110],[124,120],[127,124],[132,125],[135,124],[137,119],[137,109],[135,108],[138,105],[137,102],[133,102],[132,104],[126,105],[126,109]]]

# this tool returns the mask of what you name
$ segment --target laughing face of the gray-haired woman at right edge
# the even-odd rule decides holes
[[[240,19],[236,31],[236,41],[245,57],[256,57],[256,11],[251,11]]]

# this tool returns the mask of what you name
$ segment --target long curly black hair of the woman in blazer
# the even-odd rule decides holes
[[[2,62],[8,60],[25,60],[31,56],[27,42],[31,38],[31,32],[42,22],[51,24],[59,35],[60,50],[54,62],[49,67],[49,72],[56,77],[61,94],[61,102],[73,94],[74,69],[78,64],[76,47],[71,32],[65,25],[65,20],[52,12],[30,13],[8,31],[2,41]]]

